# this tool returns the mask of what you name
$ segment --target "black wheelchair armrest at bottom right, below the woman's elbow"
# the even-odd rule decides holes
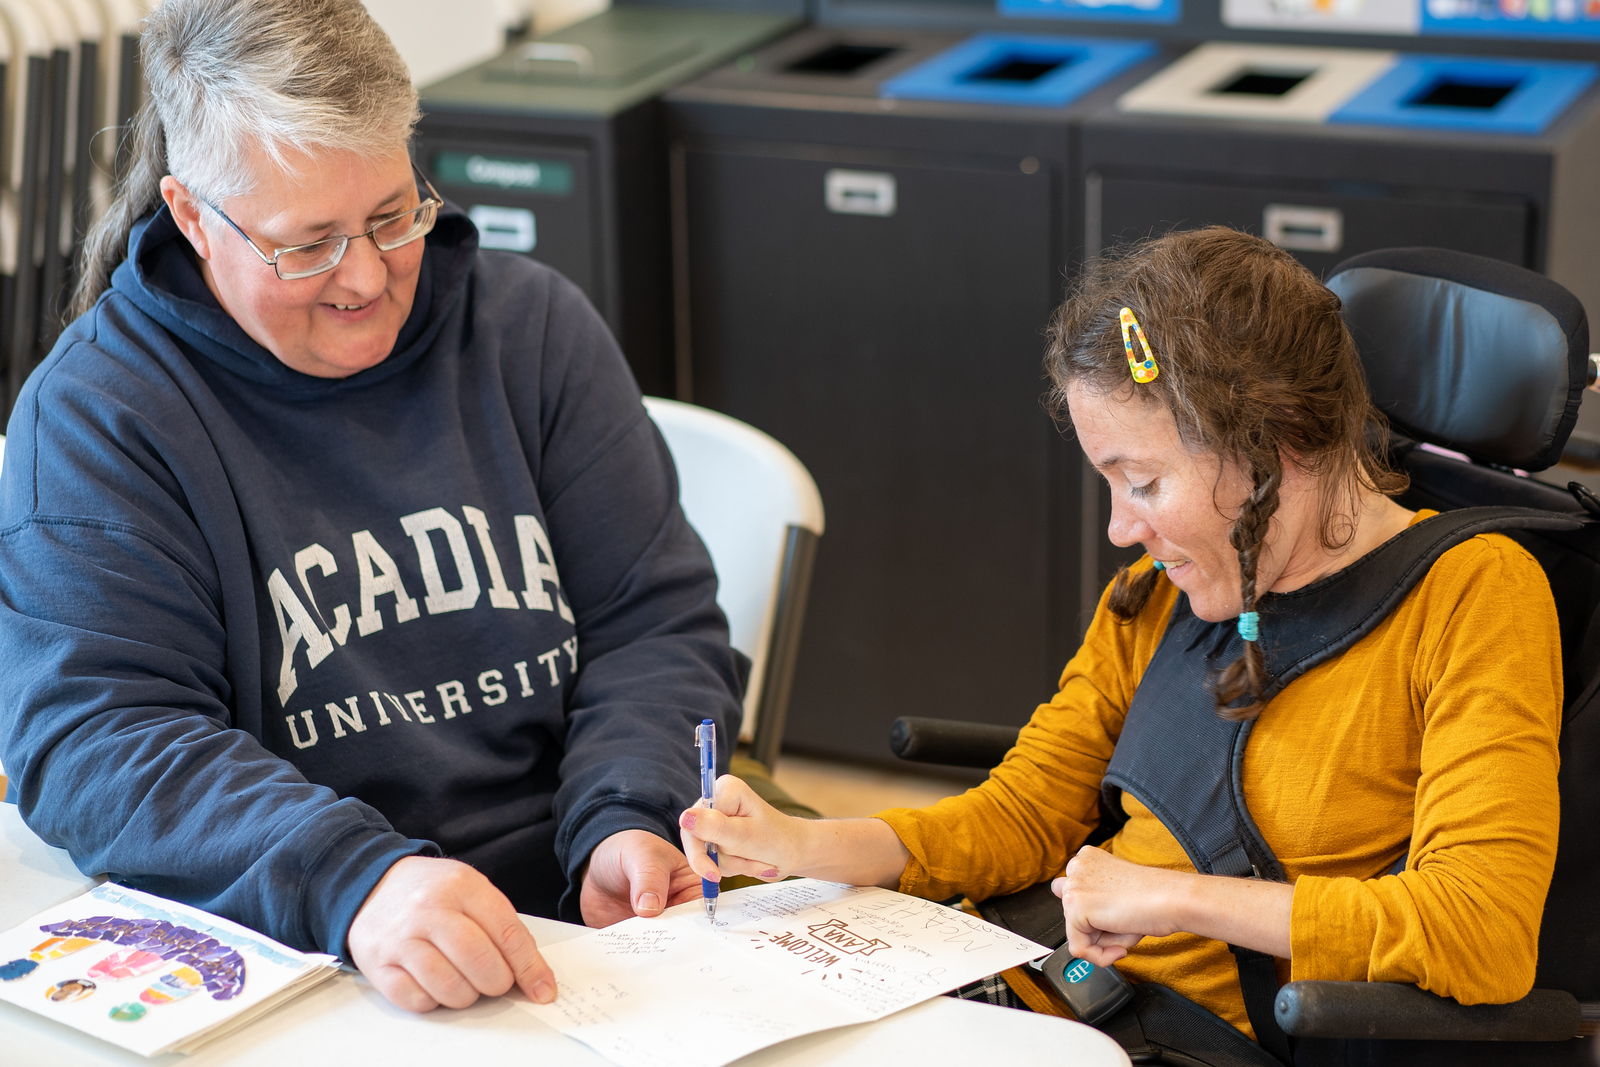
[[[1272,1008],[1293,1037],[1427,1041],[1566,1041],[1587,1014],[1558,989],[1467,1006],[1398,982],[1290,982]]]

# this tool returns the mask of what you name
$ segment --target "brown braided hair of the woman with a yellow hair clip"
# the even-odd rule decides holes
[[[1160,374],[1134,386],[1120,312],[1130,307]],[[1238,553],[1243,654],[1214,680],[1218,715],[1254,718],[1272,681],[1254,616],[1256,571],[1278,509],[1285,456],[1320,486],[1318,534],[1336,550],[1355,536],[1362,491],[1394,496],[1406,477],[1379,454],[1384,418],[1366,392],[1339,298],[1282,248],[1226,227],[1179,230],[1091,262],[1050,325],[1046,403],[1070,424],[1067,392],[1133,397],[1166,406],[1179,438],[1232,462],[1251,491],[1229,544]],[[1109,608],[1131,622],[1160,569],[1126,566]],[[1248,619],[1248,632],[1245,621]]]

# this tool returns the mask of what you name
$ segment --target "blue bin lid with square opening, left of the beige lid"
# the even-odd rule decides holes
[[[978,34],[886,80],[878,94],[1066,107],[1154,54],[1155,43],[1147,40]]]

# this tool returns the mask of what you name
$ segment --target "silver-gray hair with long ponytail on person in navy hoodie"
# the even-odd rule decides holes
[[[162,200],[165,174],[213,203],[250,192],[250,160],[403,147],[416,90],[360,0],[163,0],[144,19],[149,96],[110,210],[90,230],[72,314],[88,310]],[[259,158],[258,157],[258,158]]]

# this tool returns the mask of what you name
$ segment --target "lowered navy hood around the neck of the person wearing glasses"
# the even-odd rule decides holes
[[[290,395],[336,395],[381,382],[422,358],[462,299],[478,253],[477,229],[459,208],[446,203],[434,232],[422,240],[416,299],[394,350],[382,363],[349,378],[315,378],[296,371],[245,333],[206,288],[194,250],[165,205],[134,224],[128,235],[128,258],[112,274],[110,288],[162,323],[192,354],[246,381]]]

